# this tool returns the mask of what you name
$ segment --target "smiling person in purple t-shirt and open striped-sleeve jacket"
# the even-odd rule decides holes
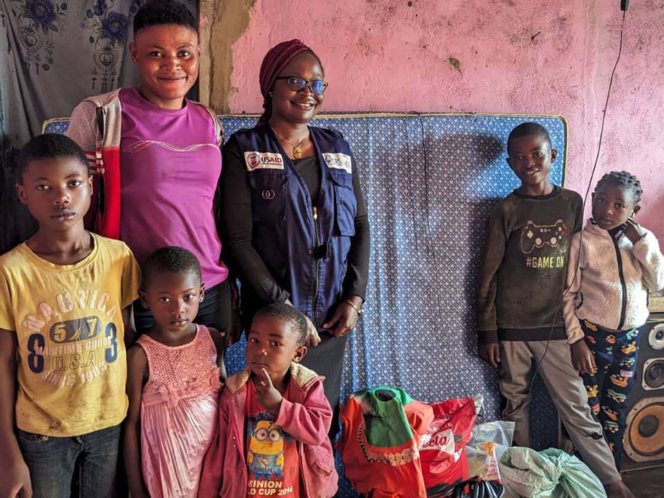
[[[178,1],[143,3],[129,44],[140,85],[81,102],[67,134],[93,174],[87,228],[127,243],[141,266],[161,247],[193,252],[207,290],[196,322],[228,340],[231,291],[215,216],[223,130],[212,109],[185,98],[199,75],[197,29]],[[154,323],[138,301],[133,312],[139,333]]]

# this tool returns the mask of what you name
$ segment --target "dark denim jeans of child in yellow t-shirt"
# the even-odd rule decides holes
[[[17,431],[30,470],[33,498],[112,498],[120,425],[74,437]]]

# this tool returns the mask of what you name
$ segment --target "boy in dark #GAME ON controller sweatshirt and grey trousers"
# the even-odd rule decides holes
[[[503,418],[515,422],[515,444],[530,446],[530,391],[539,362],[562,422],[609,498],[633,497],[591,415],[560,313],[569,241],[582,226],[581,196],[551,183],[557,154],[542,125],[519,124],[507,151],[522,185],[489,219],[477,289],[479,356],[500,367]]]

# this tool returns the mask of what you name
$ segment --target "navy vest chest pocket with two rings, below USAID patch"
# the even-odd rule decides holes
[[[286,219],[288,178],[282,174],[249,174],[252,215],[257,223],[279,223]]]

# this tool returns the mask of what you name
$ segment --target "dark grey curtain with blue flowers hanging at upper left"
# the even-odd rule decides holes
[[[181,0],[196,12],[196,0]],[[35,230],[16,199],[12,161],[48,118],[138,83],[129,57],[145,0],[0,0],[0,252]]]

